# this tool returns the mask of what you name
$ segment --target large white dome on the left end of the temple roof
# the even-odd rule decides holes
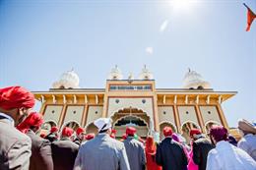
[[[72,69],[61,75],[59,81],[53,83],[53,88],[79,88],[79,77]]]

